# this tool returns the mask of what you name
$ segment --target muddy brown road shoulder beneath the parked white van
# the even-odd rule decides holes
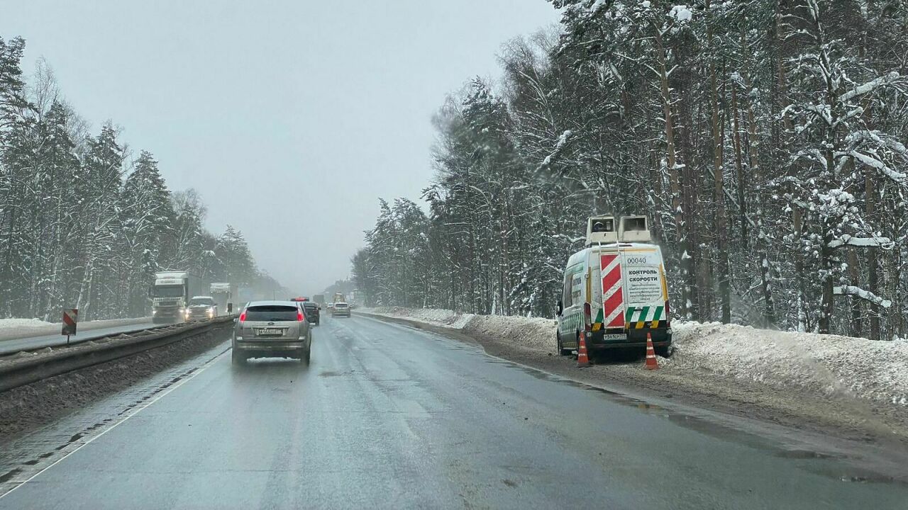
[[[669,400],[868,445],[908,446],[908,409],[903,407],[841,395],[817,397],[796,388],[768,388],[745,378],[711,373],[708,369],[684,374],[651,371],[643,368],[642,358],[635,357],[605,359],[590,368],[577,368],[574,358],[515,345],[480,332],[468,334],[417,320],[358,313],[479,345],[489,355],[631,397]]]

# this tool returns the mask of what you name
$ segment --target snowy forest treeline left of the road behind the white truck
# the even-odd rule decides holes
[[[171,191],[153,154],[133,153],[63,100],[39,61],[26,81],[22,38],[0,38],[0,318],[143,317],[157,270],[191,270],[271,295],[246,240],[202,226],[196,191]]]

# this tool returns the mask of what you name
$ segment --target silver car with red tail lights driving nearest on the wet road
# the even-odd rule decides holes
[[[234,364],[249,358],[297,358],[309,364],[312,335],[300,303],[252,301],[233,327]]]

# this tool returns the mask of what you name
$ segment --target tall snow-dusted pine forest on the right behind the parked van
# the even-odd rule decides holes
[[[551,317],[587,217],[645,213],[678,317],[908,337],[906,2],[550,1],[381,202],[371,304]]]

